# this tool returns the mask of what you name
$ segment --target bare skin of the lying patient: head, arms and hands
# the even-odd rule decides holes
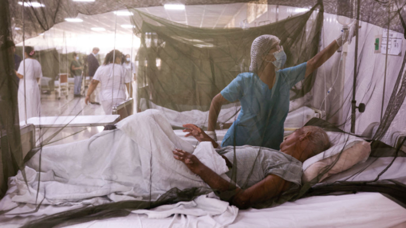
[[[194,124],[185,124],[183,126],[186,128],[183,131],[188,132],[186,137],[193,136],[199,142],[209,141],[214,147],[218,146],[218,144],[202,129],[198,128],[198,126]],[[321,153],[328,147],[329,141],[327,134],[321,128],[316,126],[304,126],[285,138],[280,144],[280,151],[296,158],[300,162],[304,162],[306,159]],[[193,154],[181,149],[174,149],[173,154],[176,160],[183,162],[190,171],[199,175],[213,190],[220,192],[234,191],[234,195],[229,202],[240,209],[246,209],[258,202],[276,197],[288,190],[292,184],[277,175],[270,174],[266,176],[264,180],[250,188],[241,189],[221,178],[220,175],[205,166]],[[231,162],[228,161],[227,158],[223,158],[226,160],[227,166],[231,165]]]

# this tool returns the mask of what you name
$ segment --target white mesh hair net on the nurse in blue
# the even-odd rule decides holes
[[[279,43],[279,38],[272,35],[262,35],[255,38],[251,45],[250,72],[256,73],[261,67],[262,57]]]

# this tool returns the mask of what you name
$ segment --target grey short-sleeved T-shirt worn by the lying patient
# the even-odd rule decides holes
[[[279,150],[259,146],[236,146],[234,161],[234,147],[226,146],[217,149],[217,153],[224,155],[232,168],[226,172],[233,180],[233,169],[236,169],[236,184],[247,189],[265,179],[269,174],[280,176],[285,181],[301,185],[302,163]]]

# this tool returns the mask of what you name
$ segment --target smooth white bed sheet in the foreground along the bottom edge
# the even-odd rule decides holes
[[[403,222],[406,209],[394,201],[380,193],[357,193],[313,196],[275,208],[240,211],[228,227],[393,227]],[[195,218],[184,215],[149,219],[146,215],[131,214],[68,227],[210,227],[206,225],[196,224]]]

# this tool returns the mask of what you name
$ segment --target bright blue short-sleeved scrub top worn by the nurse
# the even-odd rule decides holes
[[[276,71],[272,89],[256,73],[238,74],[221,91],[229,102],[240,100],[241,103],[240,114],[221,146],[252,145],[279,150],[283,141],[283,123],[289,112],[289,91],[304,79],[306,64]]]

